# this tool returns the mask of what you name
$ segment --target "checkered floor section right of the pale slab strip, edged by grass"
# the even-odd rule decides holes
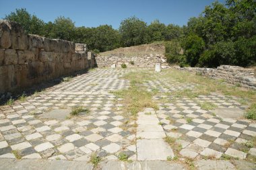
[[[166,97],[166,96],[164,96]],[[158,100],[161,97],[154,97]],[[183,97],[172,103],[161,103],[158,118],[167,134],[181,144],[180,154],[191,159],[223,154],[245,159],[255,148],[247,148],[256,136],[256,124],[250,120],[222,119],[214,112],[203,110],[200,103],[212,102],[219,108],[241,108],[237,100],[223,95],[200,95],[195,99]]]

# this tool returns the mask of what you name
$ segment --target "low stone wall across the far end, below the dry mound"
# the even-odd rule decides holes
[[[155,67],[156,63],[166,63],[162,54],[145,54],[143,56],[125,56],[125,54],[110,54],[109,56],[96,56],[98,67],[110,67],[115,64],[121,67],[123,63],[127,67]]]

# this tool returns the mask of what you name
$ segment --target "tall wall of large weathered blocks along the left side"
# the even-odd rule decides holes
[[[93,66],[84,44],[27,35],[20,24],[0,21],[0,93]]]

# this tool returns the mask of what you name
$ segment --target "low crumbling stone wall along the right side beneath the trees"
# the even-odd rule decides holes
[[[243,67],[221,65],[217,69],[199,68],[199,67],[174,67],[179,70],[205,75],[214,79],[224,79],[232,84],[241,84],[241,86],[256,90],[256,79],[254,69],[245,69]]]

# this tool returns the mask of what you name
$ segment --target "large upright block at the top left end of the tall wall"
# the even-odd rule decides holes
[[[0,48],[11,46],[11,32],[6,21],[0,21]]]

